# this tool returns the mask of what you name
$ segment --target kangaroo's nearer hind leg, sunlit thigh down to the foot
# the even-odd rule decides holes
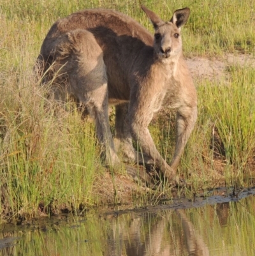
[[[84,29],[68,33],[73,47],[69,57],[69,91],[95,119],[96,135],[105,147],[105,161],[108,165],[119,163],[115,152],[108,118],[108,87],[103,52],[94,36]]]

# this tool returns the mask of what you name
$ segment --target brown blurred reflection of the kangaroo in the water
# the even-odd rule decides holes
[[[148,214],[127,222],[119,218],[112,223],[112,234],[108,234],[107,256],[209,255],[203,237],[184,210],[163,216]]]

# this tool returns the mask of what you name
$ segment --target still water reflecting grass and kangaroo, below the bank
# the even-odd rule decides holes
[[[25,227],[2,225],[0,255],[251,256],[255,255],[254,193],[111,211],[78,222],[62,216]]]

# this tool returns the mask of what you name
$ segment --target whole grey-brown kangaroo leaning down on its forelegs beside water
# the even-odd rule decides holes
[[[73,94],[94,116],[106,162],[119,163],[107,113],[108,105],[115,105],[115,137],[124,155],[139,161],[132,139],[138,141],[143,161],[160,167],[173,181],[197,118],[196,89],[180,36],[189,8],[175,11],[168,22],[145,6],[142,10],[154,26],[154,37],[135,20],[112,10],[83,10],[57,20],[43,41],[38,63],[41,72],[51,70],[48,79],[58,72],[55,92]],[[157,151],[148,130],[154,112],[163,105],[177,110],[171,165]]]

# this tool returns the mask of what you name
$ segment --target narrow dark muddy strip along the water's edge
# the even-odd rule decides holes
[[[83,211],[80,215],[70,215],[69,213],[61,213],[54,215],[51,218],[36,218],[33,220],[24,220],[20,225],[15,227],[12,223],[6,223],[1,225],[1,232],[9,233],[11,230],[23,230],[27,229],[39,229],[47,231],[52,226],[61,225],[61,223],[73,222],[75,218],[78,218],[80,222],[84,222],[87,216],[93,216],[93,218],[117,218],[118,216],[125,215],[127,213],[142,214],[142,213],[157,213],[165,210],[179,210],[179,209],[191,209],[204,207],[207,205],[222,204],[227,202],[238,202],[246,197],[254,197],[255,186],[252,188],[215,188],[213,190],[207,190],[194,194],[193,199],[187,199],[185,197],[176,199],[158,199],[151,200],[149,205],[143,207],[135,207],[132,202],[126,201],[122,204],[109,204],[101,208],[95,207]],[[17,237],[14,237],[15,241]],[[5,246],[8,243],[13,243],[8,239],[0,240],[1,245]]]

